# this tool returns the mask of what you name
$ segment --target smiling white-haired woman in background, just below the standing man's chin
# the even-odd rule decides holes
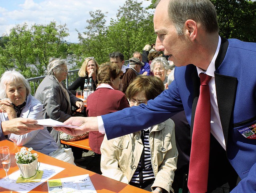
[[[152,60],[150,64],[150,71],[154,74],[154,76],[160,78],[164,83],[165,88],[168,88],[168,76],[167,71],[169,69],[169,63],[164,57],[157,57]]]

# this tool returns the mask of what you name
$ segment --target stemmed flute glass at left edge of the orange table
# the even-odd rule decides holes
[[[1,164],[3,166],[3,169],[6,173],[6,179],[3,181],[4,184],[9,184],[12,181],[9,179],[8,171],[10,169],[11,160],[10,160],[10,152],[8,146],[2,146],[0,147],[0,159]]]

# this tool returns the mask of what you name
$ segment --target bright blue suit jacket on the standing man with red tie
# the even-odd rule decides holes
[[[222,38],[215,67],[226,154],[242,179],[233,191],[256,192],[256,140],[247,139],[237,131],[256,123],[256,43]],[[168,90],[148,101],[148,105],[102,116],[108,139],[158,124],[183,109],[193,129],[200,87],[196,67],[190,64],[175,68],[174,78]]]

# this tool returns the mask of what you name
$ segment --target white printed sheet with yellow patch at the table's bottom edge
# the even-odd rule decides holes
[[[79,192],[96,193],[89,174],[50,179],[47,181],[49,193]]]

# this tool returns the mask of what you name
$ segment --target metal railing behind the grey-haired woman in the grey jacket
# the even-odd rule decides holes
[[[68,86],[70,86],[78,78],[78,71],[79,71],[79,69],[68,71],[68,76],[67,76],[66,80],[63,81],[64,84],[66,85],[66,88],[68,88]],[[45,77],[46,76],[38,76],[38,77],[28,78],[27,79],[28,82],[30,83],[31,94],[33,96],[36,93],[36,89],[38,88],[38,85],[42,82],[42,80]]]

